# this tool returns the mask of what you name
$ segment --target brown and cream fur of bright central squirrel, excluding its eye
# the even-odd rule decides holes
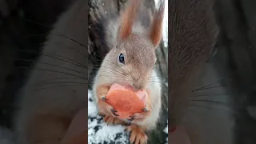
[[[150,27],[143,27],[140,25],[141,23],[134,21],[139,15],[139,8],[141,8],[139,3],[137,0],[131,0],[130,5],[122,14],[117,39],[114,44],[110,45],[113,47],[106,54],[102,66],[98,70],[93,90],[96,102],[98,102],[98,109],[100,112],[106,113],[108,118],[104,118],[104,120],[108,123],[113,123],[114,118],[117,117],[110,110],[113,107],[102,100],[102,97],[106,96],[102,95],[106,94],[105,89],[102,92],[102,86],[119,83],[124,86],[132,86],[134,90],[150,91],[146,102],[147,111],[134,114],[134,120],[131,121],[133,128],[130,130],[130,142],[134,142],[135,138],[136,143],[141,142],[140,144],[142,144],[147,140],[145,130],[154,128],[161,109],[161,84],[154,71],[154,64],[156,62],[155,48],[162,38],[163,8],[160,7],[161,10],[155,13]],[[118,62],[119,54],[124,55],[124,64]],[[122,119],[122,121],[129,122],[127,119]]]

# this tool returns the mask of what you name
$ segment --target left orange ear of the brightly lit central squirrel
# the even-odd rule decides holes
[[[131,34],[140,2],[141,0],[130,0],[130,5],[126,7],[126,10],[122,14],[122,22],[118,30],[119,39],[123,40]]]

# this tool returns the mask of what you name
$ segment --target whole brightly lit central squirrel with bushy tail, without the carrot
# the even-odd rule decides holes
[[[104,17],[93,16],[95,22],[101,20],[98,24],[106,27],[103,32],[99,30],[103,35],[98,35],[105,38],[106,42],[100,41],[98,45],[109,50],[94,78],[94,99],[106,123],[130,124],[126,127],[131,132],[130,143],[147,142],[146,131],[154,129],[158,122],[162,86],[154,66],[155,50],[162,40],[164,8],[165,1],[159,1],[158,10],[154,11],[152,18],[150,11],[146,12],[145,7],[142,7],[141,0],[130,0],[120,17],[112,13],[113,17],[107,21]],[[97,23],[95,25],[90,28],[99,27]],[[130,115],[127,119],[118,118],[118,111],[107,104],[105,98],[114,83],[147,91],[146,107],[142,113]]]

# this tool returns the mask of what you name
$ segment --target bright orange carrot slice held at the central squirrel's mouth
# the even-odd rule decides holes
[[[146,97],[146,90],[134,91],[115,83],[106,94],[106,102],[118,111],[119,118],[130,118],[129,115],[142,112]]]

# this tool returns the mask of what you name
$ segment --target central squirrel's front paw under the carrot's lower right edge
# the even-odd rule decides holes
[[[151,114],[151,109],[150,106],[146,106],[144,109],[142,109],[141,113],[135,113],[134,115],[130,115],[127,120],[129,120],[130,122],[142,122],[144,121],[146,118],[148,118]]]

